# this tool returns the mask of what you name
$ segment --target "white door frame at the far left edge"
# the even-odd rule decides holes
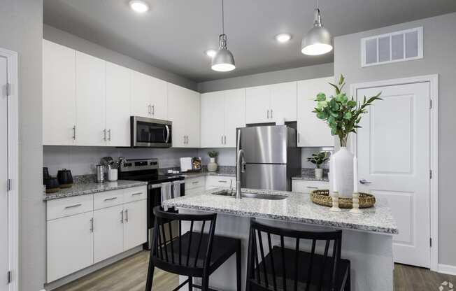
[[[19,123],[18,123],[18,78],[17,52],[0,48],[0,57],[6,58],[7,78],[10,84],[8,97],[8,265],[11,271],[9,291],[18,290],[19,281]]]

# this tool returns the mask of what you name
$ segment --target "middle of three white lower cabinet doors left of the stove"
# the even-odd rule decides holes
[[[124,250],[123,205],[94,211],[94,263]]]

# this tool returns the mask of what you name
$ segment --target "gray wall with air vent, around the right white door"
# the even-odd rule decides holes
[[[422,26],[424,59],[370,66],[360,66],[359,39],[391,31]],[[350,83],[405,78],[439,73],[439,263],[456,266],[456,227],[454,205],[456,143],[456,13],[394,25],[334,39],[334,73],[345,75]],[[435,98],[435,97],[434,97]]]

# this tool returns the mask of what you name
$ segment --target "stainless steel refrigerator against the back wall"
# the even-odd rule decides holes
[[[296,129],[286,125],[243,127],[237,134],[236,152],[245,152],[241,187],[291,191],[292,176],[301,174]]]

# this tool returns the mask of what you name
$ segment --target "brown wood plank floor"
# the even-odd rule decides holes
[[[144,291],[148,255],[146,251],[137,253],[55,291]],[[173,290],[178,286],[178,281],[177,275],[155,269],[153,290]],[[456,276],[403,264],[395,264],[394,267],[394,291],[439,290],[444,281],[456,284]]]

